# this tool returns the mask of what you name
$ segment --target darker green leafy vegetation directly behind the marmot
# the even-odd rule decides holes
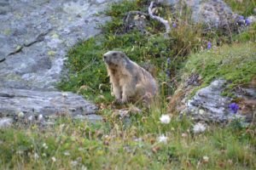
[[[102,54],[115,49],[124,51],[139,65],[146,62],[153,64],[157,71],[160,94],[168,96],[172,95],[177,87],[177,82],[173,80],[180,80],[177,73],[183,68],[183,62],[188,59],[189,54],[195,54],[201,49],[207,48],[207,42],[212,42],[212,46],[217,46],[217,44],[230,43],[230,39],[233,42],[256,41],[256,25],[247,28],[238,36],[224,36],[218,31],[206,33],[203,31],[203,26],[191,23],[189,8],[184,8],[183,14],[179,15],[172,14],[169,8],[160,8],[162,17],[172,20],[180,18],[177,21],[177,28],[172,28],[169,39],[164,38],[162,34],[164,27],[155,20],[148,21],[148,26],[145,28],[148,34],[143,35],[136,29],[124,31],[123,18],[125,14],[131,10],[147,12],[147,8],[148,3],[144,0],[113,3],[106,11],[106,14],[113,20],[102,26],[103,34],[80,42],[69,50],[67,54],[69,72],[67,77],[58,84],[58,88],[82,94],[86,99],[96,103],[111,102],[113,98],[109,93],[110,85]],[[213,55],[214,53],[212,57],[215,58]],[[201,57],[199,58],[201,59]],[[171,60],[170,65],[166,63],[167,59]],[[211,57],[209,56],[208,59]],[[166,74],[167,71],[170,72],[169,76]],[[218,74],[222,74],[222,72],[218,72]],[[210,80],[215,76],[218,75],[212,74],[207,79]]]

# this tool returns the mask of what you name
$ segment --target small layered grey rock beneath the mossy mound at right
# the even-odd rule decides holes
[[[244,112],[240,103],[237,104],[240,106],[240,110],[236,114],[230,111],[232,100],[221,95],[225,86],[226,81],[218,79],[206,88],[201,88],[192,99],[185,102],[186,108],[183,112],[191,115],[195,120],[205,122],[228,122],[237,117],[243,117],[248,122],[252,121],[253,111],[247,110],[247,112]],[[250,98],[253,101],[256,94],[255,88],[245,90],[250,93],[239,94],[239,96],[237,94],[237,96],[241,100]],[[252,90],[254,91],[252,92]]]

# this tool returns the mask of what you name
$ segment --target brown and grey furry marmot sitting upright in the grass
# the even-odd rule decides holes
[[[108,76],[113,88],[113,95],[119,103],[135,102],[143,99],[147,104],[157,94],[158,88],[154,77],[131,61],[125,53],[108,51],[103,55]]]

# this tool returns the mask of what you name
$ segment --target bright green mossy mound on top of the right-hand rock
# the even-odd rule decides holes
[[[216,78],[224,78],[229,82],[224,94],[231,95],[229,92],[247,85],[256,75],[256,44],[235,43],[201,54],[192,54],[181,74],[191,73],[201,75],[201,87],[207,86]]]

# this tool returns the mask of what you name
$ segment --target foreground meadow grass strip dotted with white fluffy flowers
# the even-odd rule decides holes
[[[44,129],[35,125],[2,129],[0,168],[256,168],[255,127],[211,125],[205,133],[195,134],[189,117],[172,116],[169,124],[161,124],[164,113],[154,108],[131,116],[127,123],[105,110],[106,122],[96,124],[63,119]],[[158,142],[160,134],[168,137],[166,144]]]

